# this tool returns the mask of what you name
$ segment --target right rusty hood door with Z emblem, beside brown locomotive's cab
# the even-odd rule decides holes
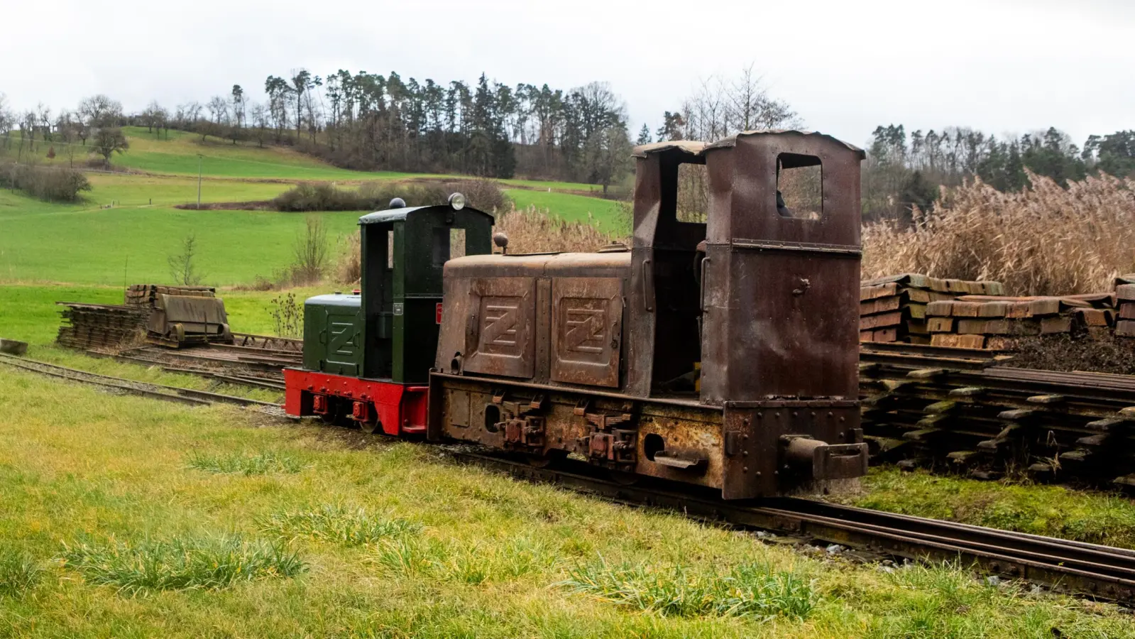
[[[619,386],[622,283],[617,278],[556,278],[552,283],[552,379]]]

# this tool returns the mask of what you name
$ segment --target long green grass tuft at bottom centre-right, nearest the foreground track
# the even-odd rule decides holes
[[[762,564],[728,574],[686,566],[654,567],[598,562],[577,566],[555,586],[605,602],[673,616],[807,619],[816,605],[812,582]]]

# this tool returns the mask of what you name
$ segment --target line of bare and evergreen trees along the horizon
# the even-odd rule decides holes
[[[585,182],[607,187],[632,169],[631,137],[623,100],[607,83],[562,90],[547,84],[515,86],[419,82],[400,74],[339,69],[319,76],[306,69],[264,79],[263,101],[238,84],[205,102],[167,108],[157,101],[126,113],[116,100],[93,95],[75,109],[52,112],[39,106],[16,113],[0,94],[0,150],[25,148],[53,157],[53,143],[74,163],[76,149],[109,163],[127,148],[124,125],[155,135],[170,128],[232,143],[293,145],[334,165],[363,170],[460,173],[508,178],[514,175]],[[705,79],[661,126],[647,125],[636,143],[662,140],[712,141],[754,128],[802,127],[787,102],[766,91],[750,66],[733,77]],[[14,142],[14,140],[16,142]],[[15,149],[12,146],[16,145]],[[867,142],[863,170],[864,216],[909,219],[925,209],[940,186],[980,177],[1002,190],[1026,185],[1026,169],[1065,184],[1092,171],[1135,173],[1135,131],[1092,135],[1082,146],[1052,127],[1016,137],[997,137],[968,127],[908,132],[877,127]],[[41,153],[42,154],[42,153]],[[682,177],[684,208],[704,211],[705,180],[697,169]]]

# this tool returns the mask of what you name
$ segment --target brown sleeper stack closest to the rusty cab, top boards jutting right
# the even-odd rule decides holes
[[[1000,295],[998,281],[940,279],[900,274],[864,281],[859,288],[859,340],[930,344],[928,304],[960,295]]]

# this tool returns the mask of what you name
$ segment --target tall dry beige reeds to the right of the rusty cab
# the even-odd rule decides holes
[[[865,278],[898,272],[993,279],[1012,295],[1109,289],[1135,270],[1135,179],[1069,182],[1029,173],[1031,186],[1001,193],[974,179],[942,196],[915,227],[863,232]]]

